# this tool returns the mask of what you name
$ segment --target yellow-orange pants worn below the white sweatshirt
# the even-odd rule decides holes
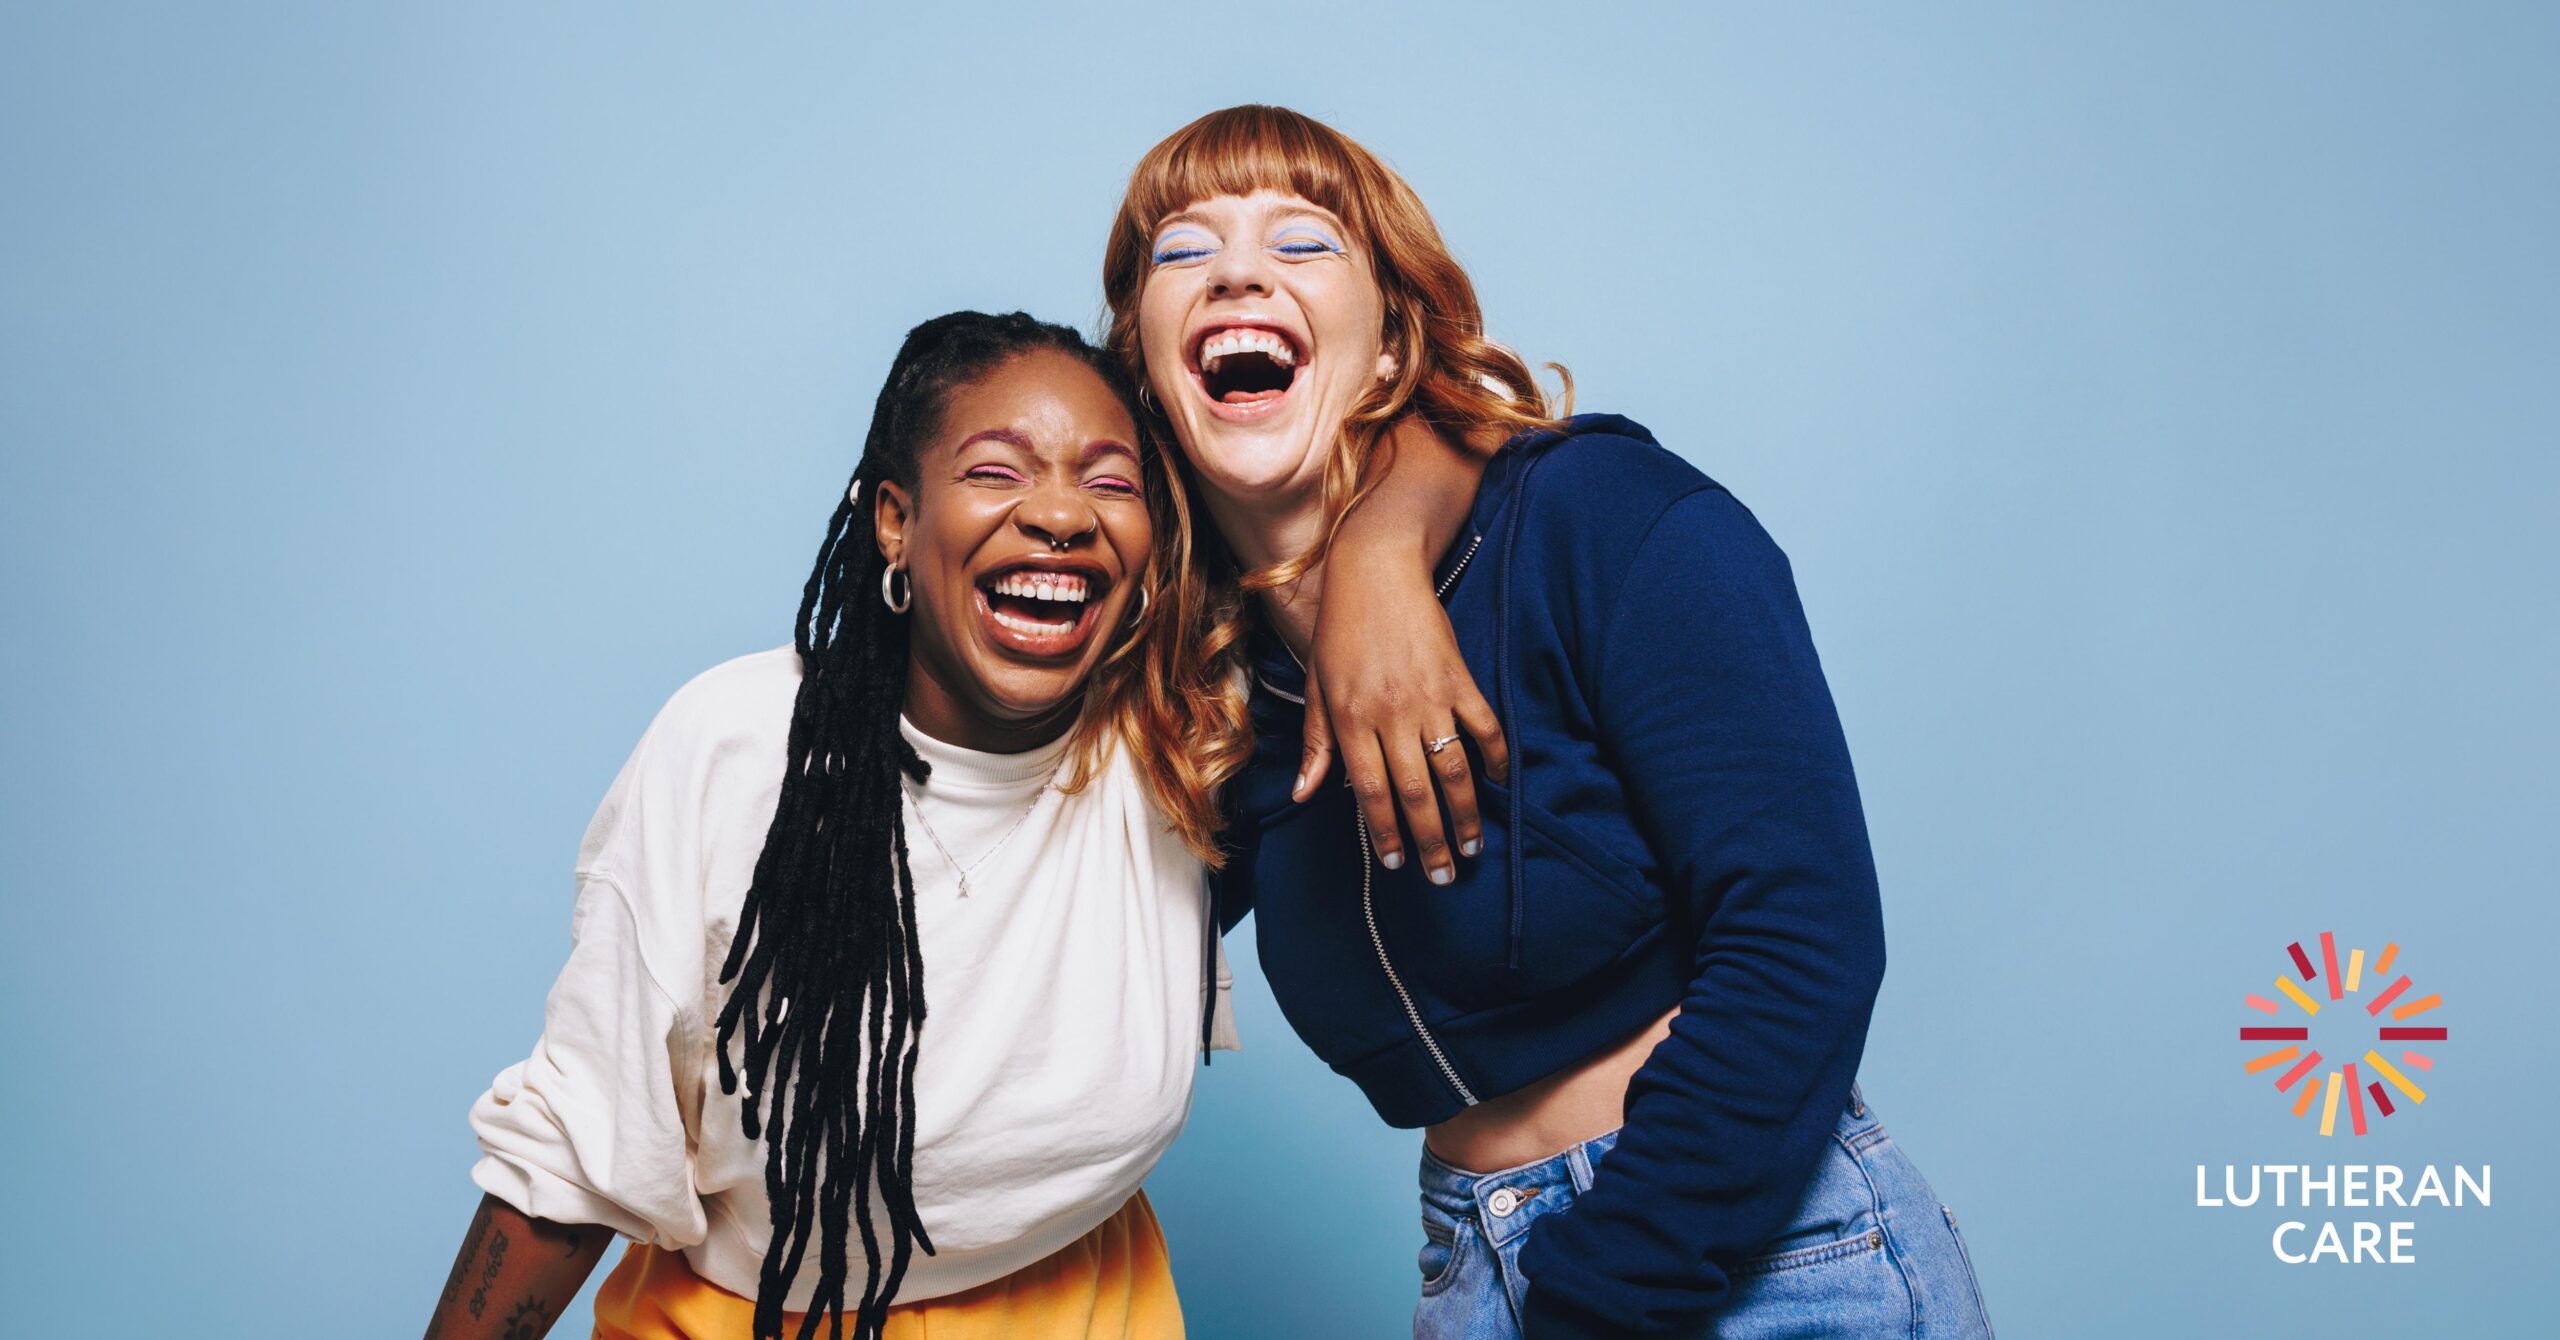
[[[860,1276],[855,1279],[860,1284]],[[801,1314],[783,1314],[799,1335]],[[847,1335],[852,1317],[845,1317]],[[686,1266],[684,1253],[635,1243],[596,1291],[596,1340],[745,1340],[755,1299],[742,1299]],[[827,1327],[819,1325],[819,1335]],[[1129,1197],[1093,1232],[1004,1279],[965,1294],[888,1309],[886,1340],[1178,1340],[1183,1304],[1172,1296],[1165,1230],[1147,1194]]]

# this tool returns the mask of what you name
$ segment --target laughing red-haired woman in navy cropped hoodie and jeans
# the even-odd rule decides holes
[[[1221,612],[1254,733],[1221,915],[1260,912],[1298,1035],[1426,1127],[1416,1335],[1989,1335],[1953,1212],[1856,1084],[1874,861],[1751,510],[1551,407],[1413,190],[1285,108],[1149,149],[1103,287],[1252,594]],[[1400,507],[1441,479],[1428,587],[1329,571],[1390,459]],[[1336,679],[1352,789],[1298,753],[1341,625],[1416,664],[1454,638],[1485,692]]]

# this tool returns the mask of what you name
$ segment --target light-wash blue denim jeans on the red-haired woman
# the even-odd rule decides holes
[[[1416,1340],[1518,1340],[1528,1227],[1590,1191],[1618,1132],[1554,1158],[1469,1173],[1423,1150],[1423,1299]],[[1795,1217],[1733,1273],[1700,1337],[1992,1340],[1956,1212],[1894,1148],[1856,1086]]]

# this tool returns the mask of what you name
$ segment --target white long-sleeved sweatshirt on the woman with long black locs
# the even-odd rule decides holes
[[[745,1094],[719,1091],[717,976],[781,797],[796,692],[783,646],[714,666],[658,712],[579,846],[543,1038],[471,1107],[484,1191],[681,1248],[750,1299],[771,1240],[765,1148],[740,1132]],[[906,848],[929,1009],[914,1189],[937,1255],[914,1258],[899,1296],[932,1299],[1055,1253],[1137,1191],[1190,1112],[1211,940],[1201,861],[1124,748],[1062,794],[1050,784],[1065,740],[978,753],[901,725],[932,764],[909,787]],[[970,866],[968,897],[919,810]],[[1216,976],[1231,1048],[1224,956]],[[806,1307],[814,1258],[786,1307]]]

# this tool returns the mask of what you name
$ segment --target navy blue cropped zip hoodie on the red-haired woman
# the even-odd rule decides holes
[[[1265,635],[1221,915],[1257,912],[1280,1009],[1400,1127],[1679,1007],[1521,1268],[1528,1340],[1695,1327],[1812,1179],[1884,974],[1787,556],[1641,425],[1577,415],[1492,459],[1439,576],[1513,756],[1508,787],[1477,769],[1482,853],[1434,887],[1367,858],[1347,787],[1293,805],[1303,676]]]

